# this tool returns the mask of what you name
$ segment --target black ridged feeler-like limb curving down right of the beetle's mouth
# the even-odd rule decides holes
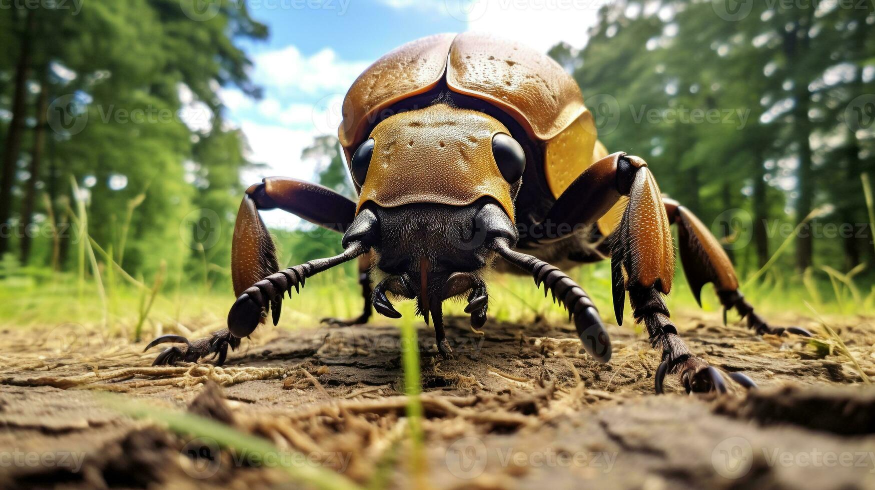
[[[598,315],[595,304],[592,304],[592,300],[583,288],[549,263],[512,250],[506,238],[494,240],[490,247],[507,262],[528,271],[535,277],[536,285],[540,286],[543,283],[545,291],[552,291],[554,301],[559,299],[568,310],[569,319],[574,319],[577,335],[587,353],[599,362],[611,360],[611,340],[607,336],[605,325]]]

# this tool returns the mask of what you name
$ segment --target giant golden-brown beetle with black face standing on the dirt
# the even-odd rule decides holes
[[[739,292],[732,263],[717,239],[686,207],[662,197],[648,164],[609,154],[577,83],[554,60],[518,43],[465,32],[421,38],[388,52],[361,73],[342,106],[339,143],[358,201],[297,179],[250,186],[235,223],[231,268],[237,299],[228,328],[158,354],[155,365],[222,364],[268,312],[279,319],[283,293],[307,277],[358,260],[366,322],[372,305],[398,318],[390,297],[416,300],[444,336],[442,302],[466,295],[465,312],[486,322],[488,269],[529,274],[569,311],[584,350],[611,358],[611,343],[584,289],[563,272],[611,260],[614,314],[623,321],[628,294],[634,318],[662,349],[655,391],[666,374],[690,391],[726,391],[722,374],[690,352],[663,297],[675,274],[669,226],[678,228],[681,262],[701,304],[714,283],[725,310],[734,308],[759,334],[802,328],[770,326]],[[280,208],[343,233],[340,255],[279,270],[258,211]],[[372,288],[372,281],[376,285]],[[754,386],[745,374],[730,378]]]

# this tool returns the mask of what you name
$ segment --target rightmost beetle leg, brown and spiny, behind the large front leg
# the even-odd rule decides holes
[[[720,243],[711,235],[695,214],[675,200],[664,199],[669,221],[676,223],[678,248],[681,250],[683,271],[690,283],[690,290],[698,304],[702,304],[702,286],[714,283],[720,303],[725,310],[735,308],[741,318],[747,318],[747,326],[754,332],[781,335],[785,332],[811,337],[811,332],[798,326],[788,328],[768,325],[753,311],[753,306],[739,291],[739,279],[735,276],[732,262]]]

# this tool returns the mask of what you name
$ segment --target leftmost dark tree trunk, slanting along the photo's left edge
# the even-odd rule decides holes
[[[12,183],[15,180],[15,167],[18,152],[21,150],[21,136],[25,130],[25,104],[27,98],[27,78],[31,71],[31,39],[36,30],[36,16],[33,9],[27,11],[25,30],[21,35],[21,49],[18,52],[18,66],[15,71],[15,92],[12,95],[12,120],[6,134],[6,147],[3,156],[3,173],[0,175],[0,225],[9,224],[12,210]],[[9,249],[10,230],[0,233],[0,255]]]

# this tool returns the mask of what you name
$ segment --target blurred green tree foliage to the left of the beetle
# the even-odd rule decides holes
[[[89,234],[117,258],[124,256],[134,275],[151,275],[162,262],[171,270],[200,263],[200,249],[182,245],[193,243],[186,224],[200,215],[218,221],[212,224],[218,240],[207,248],[207,260],[227,266],[228,230],[242,193],[239,173],[251,164],[242,133],[224,123],[218,90],[235,85],[259,95],[248,79],[251,63],[235,38],[265,38],[267,30],[249,18],[245,4],[223,5],[206,21],[186,17],[177,0],[103,0],[85,4],[75,15],[46,7],[33,11],[37,22],[30,32],[20,27],[23,9],[0,10],[0,27],[19,26],[0,29],[0,38],[11,41],[0,55],[0,72],[10,76],[0,80],[13,78],[22,39],[31,38],[31,75],[46,67],[52,73],[40,89],[50,101],[73,102],[50,111],[73,108],[67,116],[84,121],[74,130],[59,130],[50,115],[48,165],[35,176],[19,173],[11,195],[0,196],[12,200],[13,223],[23,219],[15,219],[18,186],[38,179],[62,224],[69,221],[66,203],[75,208],[75,200],[87,200]],[[13,87],[6,83],[0,89],[11,93]],[[34,98],[26,101],[29,111]],[[26,133],[23,158],[31,151],[31,131]],[[2,122],[0,134],[6,134]],[[81,195],[71,194],[70,177],[82,187]],[[129,203],[141,195],[145,199],[130,214],[130,225],[120,226]],[[41,220],[47,212],[38,209]],[[38,237],[30,262],[50,263],[52,247],[51,240]],[[60,247],[66,258],[61,265],[69,268],[71,240]],[[224,278],[210,274],[214,281]]]

